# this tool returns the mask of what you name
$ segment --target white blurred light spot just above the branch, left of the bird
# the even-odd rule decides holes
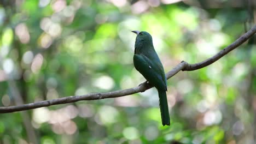
[[[96,79],[93,82],[93,85],[95,87],[98,87],[98,88],[101,88],[101,89],[109,90],[109,89],[112,89],[114,87],[115,83],[114,83],[114,80],[110,76],[103,75],[101,77],[98,77],[98,79]]]

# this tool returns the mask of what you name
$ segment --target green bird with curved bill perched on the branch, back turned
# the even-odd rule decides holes
[[[158,89],[159,107],[162,125],[170,125],[170,116],[166,97],[167,81],[164,67],[155,52],[152,36],[148,32],[132,31],[137,34],[133,64],[150,85]]]

